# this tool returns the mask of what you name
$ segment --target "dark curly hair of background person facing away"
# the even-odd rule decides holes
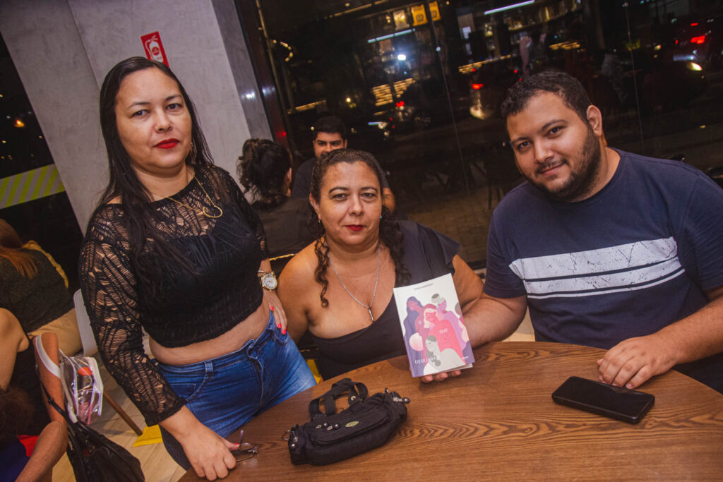
[[[286,147],[269,139],[248,139],[241,148],[236,174],[241,186],[258,194],[254,207],[270,210],[283,202],[286,173],[291,158]]]

